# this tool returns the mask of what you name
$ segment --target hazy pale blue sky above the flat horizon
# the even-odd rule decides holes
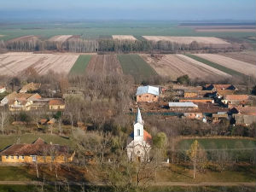
[[[0,19],[255,20],[255,0],[0,0]]]

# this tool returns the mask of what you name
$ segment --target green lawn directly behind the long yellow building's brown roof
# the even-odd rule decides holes
[[[73,141],[70,138],[60,137],[57,135],[49,135],[49,134],[23,134],[23,135],[9,135],[9,136],[0,136],[0,151],[3,148],[12,145],[13,143],[32,143],[38,137],[44,139],[46,143],[54,143],[54,144],[61,144],[73,147]]]

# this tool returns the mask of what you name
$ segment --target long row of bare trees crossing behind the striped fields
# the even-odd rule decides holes
[[[204,51],[218,51],[218,50],[234,50],[232,46],[225,48],[218,48],[212,45],[198,44],[192,42],[191,44],[177,44],[170,41],[120,41],[113,39],[82,39],[70,38],[65,42],[55,42],[49,40],[40,40],[38,38],[21,38],[17,40],[0,42],[0,49],[8,49],[14,51],[69,51],[69,52],[152,52],[162,51],[169,53],[176,53],[186,50],[204,50]]]

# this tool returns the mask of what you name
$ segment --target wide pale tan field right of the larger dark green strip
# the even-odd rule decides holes
[[[184,55],[142,55],[144,60],[147,61],[154,70],[163,77],[176,80],[184,74],[188,74],[191,79],[216,79],[229,77],[227,73],[223,73],[213,67],[189,60]]]

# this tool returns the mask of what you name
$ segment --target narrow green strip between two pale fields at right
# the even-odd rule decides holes
[[[217,68],[218,70],[224,72],[224,73],[228,73],[232,76],[239,76],[239,77],[245,77],[246,75],[243,74],[243,73],[239,73],[233,69],[230,69],[230,68],[227,68],[227,67],[224,67],[222,65],[219,65],[218,63],[216,62],[212,62],[212,61],[208,61],[206,59],[203,59],[197,55],[191,55],[191,54],[186,54],[186,56],[189,56],[190,58],[194,59],[195,61],[200,61],[208,66],[211,66],[211,67],[214,67],[214,68]]]

